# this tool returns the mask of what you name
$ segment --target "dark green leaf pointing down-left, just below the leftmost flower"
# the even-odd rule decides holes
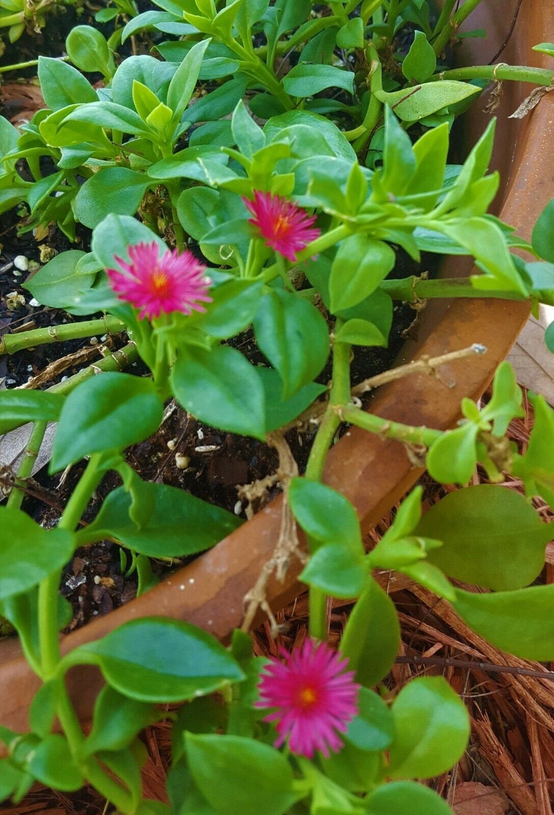
[[[69,394],[62,408],[51,472],[93,452],[123,450],[143,441],[156,432],[162,414],[162,402],[149,379],[128,373],[87,379]]]

